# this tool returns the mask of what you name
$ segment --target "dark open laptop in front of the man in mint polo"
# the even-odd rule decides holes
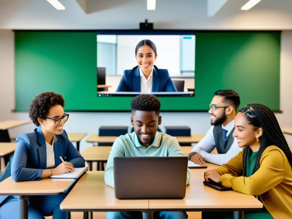
[[[117,199],[183,199],[187,157],[114,157]]]

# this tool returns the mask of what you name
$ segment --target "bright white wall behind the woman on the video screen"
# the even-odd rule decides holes
[[[117,74],[137,65],[136,45],[143,39],[150,39],[157,49],[154,62],[158,68],[168,69],[169,75],[180,76],[180,36],[179,35],[119,35],[117,36]]]

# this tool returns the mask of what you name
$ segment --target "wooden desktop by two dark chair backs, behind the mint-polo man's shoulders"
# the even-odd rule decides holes
[[[198,143],[205,135],[204,134],[192,134],[191,136],[178,136],[176,139],[178,143]],[[91,134],[86,139],[87,142],[97,143],[114,143],[118,136],[98,136],[97,134]]]

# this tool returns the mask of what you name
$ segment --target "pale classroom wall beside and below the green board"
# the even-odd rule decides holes
[[[282,114],[277,114],[281,126],[292,126],[291,105],[292,105],[292,31],[283,31],[281,45],[281,84],[280,100]],[[260,82],[259,82],[260,83]],[[0,121],[4,119],[29,119],[27,112],[12,113],[15,102],[14,85],[14,35],[11,30],[0,30]],[[210,117],[208,113],[161,113],[162,131],[166,125],[190,126],[192,133],[206,133],[210,127]],[[80,126],[80,121],[83,122]],[[130,126],[129,113],[82,113],[70,112],[70,119],[65,125],[67,132],[87,132],[97,133],[99,126],[117,125]],[[12,138],[30,131],[35,126],[25,125],[9,131]],[[287,136],[290,147],[292,146],[291,136]],[[80,151],[91,146],[83,140],[80,144]]]

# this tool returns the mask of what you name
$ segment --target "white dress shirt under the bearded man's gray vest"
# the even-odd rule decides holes
[[[222,125],[222,128],[227,130],[226,138],[234,127],[234,120],[228,123],[225,127]],[[234,141],[227,151],[226,154],[210,154],[215,148],[215,138],[213,134],[214,126],[208,130],[204,138],[197,143],[191,152],[197,152],[201,154],[201,156],[210,163],[223,165],[226,164],[231,158],[235,157],[239,152],[242,151],[242,148],[238,147],[237,139],[234,138]]]

